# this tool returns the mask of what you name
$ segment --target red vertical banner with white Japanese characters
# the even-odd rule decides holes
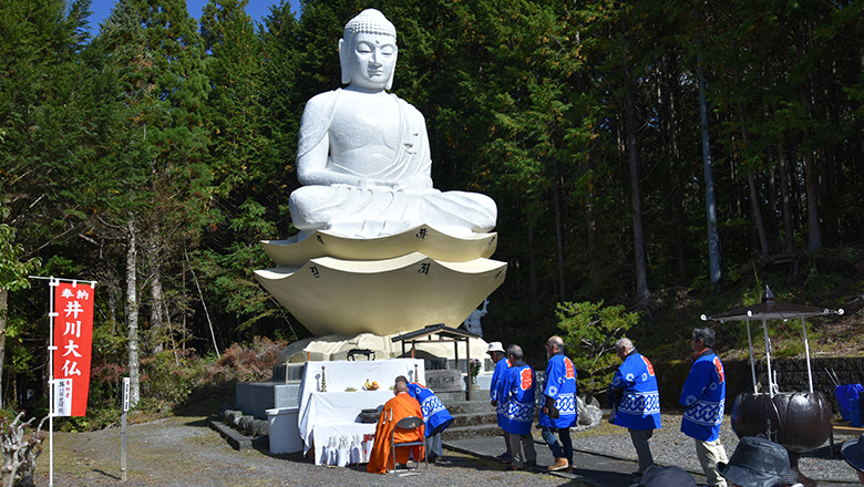
[[[72,380],[72,416],[88,412],[94,291],[90,283],[54,288],[54,379]]]

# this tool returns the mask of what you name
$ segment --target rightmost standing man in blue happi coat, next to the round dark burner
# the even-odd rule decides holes
[[[726,479],[717,469],[718,462],[729,462],[720,442],[720,424],[726,406],[726,373],[713,346],[713,330],[693,330],[690,348],[696,355],[679,400],[685,406],[681,432],[693,438],[696,455],[702,464],[708,485],[726,487]]]

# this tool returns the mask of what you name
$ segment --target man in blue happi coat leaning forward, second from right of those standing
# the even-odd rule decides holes
[[[660,428],[657,375],[651,362],[636,351],[630,339],[618,340],[615,343],[615,352],[621,359],[621,365],[615,371],[609,386],[616,398],[616,413],[611,423],[630,432],[630,439],[639,458],[639,469],[634,472],[634,475],[641,477],[645,470],[654,465],[650,441],[654,431]]]

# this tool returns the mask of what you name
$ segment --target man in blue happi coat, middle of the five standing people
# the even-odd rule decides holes
[[[555,457],[555,463],[546,469],[573,472],[570,428],[576,426],[577,419],[576,367],[564,355],[564,340],[560,336],[552,336],[546,341],[546,356],[549,362],[546,365],[546,386],[543,388],[538,422],[543,439]]]

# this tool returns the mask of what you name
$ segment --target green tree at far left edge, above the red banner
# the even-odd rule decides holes
[[[99,106],[89,97],[89,71],[80,62],[90,2],[14,0],[0,3],[0,367],[3,377],[38,370],[39,354],[7,338],[43,335],[30,307],[10,293],[27,288],[41,255],[85,237],[97,205],[93,164]],[[51,265],[51,262],[47,262]],[[56,270],[56,268],[51,269]],[[20,323],[21,328],[9,323]],[[20,359],[20,360],[19,360]],[[9,367],[14,362],[13,367]],[[10,370],[12,369],[12,370]],[[0,394],[0,403],[8,388]]]

